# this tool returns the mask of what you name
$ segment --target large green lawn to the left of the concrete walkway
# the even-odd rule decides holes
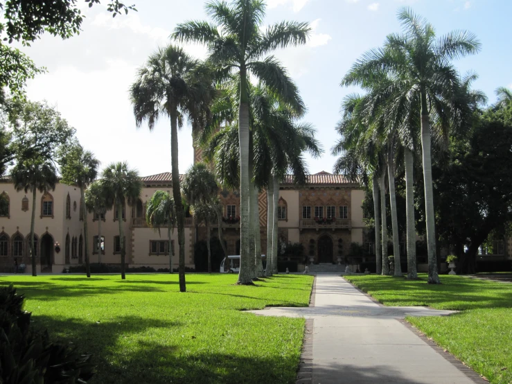
[[[312,277],[234,286],[232,274],[3,276],[52,336],[95,355],[90,383],[294,383],[304,320],[242,313],[307,306]]]

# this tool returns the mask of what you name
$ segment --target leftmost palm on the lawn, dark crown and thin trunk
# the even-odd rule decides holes
[[[32,261],[32,276],[37,276],[34,249],[35,225],[35,195],[39,191],[46,193],[55,191],[58,183],[57,172],[51,162],[42,158],[20,160],[11,171],[12,183],[16,191],[22,189],[32,192],[32,217],[30,218],[30,259]]]

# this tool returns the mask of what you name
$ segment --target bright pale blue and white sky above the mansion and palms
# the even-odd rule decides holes
[[[127,1],[128,2],[128,1]],[[141,175],[170,171],[170,130],[163,119],[153,132],[136,130],[128,88],[136,69],[157,46],[168,44],[174,26],[188,19],[206,19],[203,0],[132,0],[139,12],[112,19],[96,6],[83,10],[83,32],[62,41],[45,35],[22,48],[48,73],[28,83],[28,97],[56,105],[85,148],[106,166],[126,160]],[[105,1],[104,1],[105,3]],[[337,139],[334,127],[339,105],[357,89],[339,87],[344,73],[357,58],[381,46],[388,33],[399,32],[396,12],[403,6],[426,17],[438,35],[466,29],[477,35],[482,51],[454,64],[461,71],[476,71],[474,87],[490,103],[494,89],[512,88],[512,1],[508,0],[268,0],[265,24],[283,19],[308,21],[312,37],[306,46],[276,51],[288,67],[308,107],[304,120],[315,125],[324,150],[321,159],[309,159],[311,173],[332,171],[330,147]],[[186,46],[204,57],[201,46]],[[179,135],[179,168],[192,164],[191,134]]]

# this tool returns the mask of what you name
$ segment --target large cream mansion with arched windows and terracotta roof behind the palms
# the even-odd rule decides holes
[[[167,231],[161,234],[145,224],[145,204],[158,189],[170,191],[170,173],[142,177],[144,188],[133,207],[123,209],[126,236],[126,261],[130,266],[148,265],[168,267]],[[29,238],[32,193],[17,192],[8,179],[0,180],[0,194],[8,201],[0,216],[0,268],[4,272],[17,263],[25,263],[30,270]],[[302,243],[305,256],[318,262],[335,262],[346,255],[350,244],[367,243],[364,239],[362,200],[364,191],[357,184],[347,182],[341,175],[326,172],[308,176],[306,186],[297,188],[288,177],[279,191],[279,239],[282,242]],[[240,252],[240,196],[236,192],[220,191],[224,207],[223,236],[229,254]],[[35,256],[37,272],[61,272],[66,265],[84,262],[84,232],[81,214],[80,190],[75,186],[58,184],[55,191],[37,192],[35,202]],[[267,195],[259,195],[261,249],[267,248]],[[231,216],[231,220],[229,217]],[[104,217],[89,213],[89,252],[91,263],[118,264],[121,262],[119,230],[116,209]],[[101,220],[101,242],[98,247],[98,220]],[[213,231],[213,236],[216,231]],[[171,235],[177,247],[177,231]],[[194,243],[205,238],[204,227],[194,219],[185,219],[186,265],[194,268]],[[175,250],[177,251],[177,250]],[[176,252],[177,254],[177,252]],[[177,257],[173,259],[177,266]],[[39,270],[40,268],[40,270]]]

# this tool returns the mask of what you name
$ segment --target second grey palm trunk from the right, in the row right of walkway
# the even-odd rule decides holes
[[[414,225],[414,182],[412,150],[405,148],[405,212],[407,216],[407,279],[418,279],[416,268],[416,227]]]

